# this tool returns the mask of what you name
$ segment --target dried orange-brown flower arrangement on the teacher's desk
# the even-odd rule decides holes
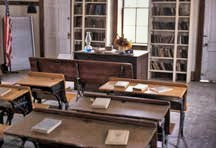
[[[120,37],[119,35],[116,36],[113,42],[114,48],[119,50],[129,50],[132,48],[132,42],[128,41],[127,38],[124,36]]]

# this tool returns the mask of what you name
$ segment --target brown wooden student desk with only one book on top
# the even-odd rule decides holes
[[[91,99],[95,99],[96,97],[111,98],[108,109],[92,108]],[[166,101],[85,93],[83,97],[79,97],[77,102],[73,102],[70,109],[104,116],[154,121],[160,128],[159,137],[162,138],[163,147],[165,147],[166,137],[170,132],[170,104]]]

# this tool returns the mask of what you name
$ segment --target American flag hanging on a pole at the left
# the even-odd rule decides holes
[[[12,32],[11,32],[11,19],[9,13],[9,6],[7,0],[5,0],[4,50],[5,50],[5,57],[6,57],[6,65],[10,67],[11,52],[12,52]]]

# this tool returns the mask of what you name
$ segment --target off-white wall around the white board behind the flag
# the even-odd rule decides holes
[[[27,1],[27,0],[23,0]],[[38,1],[38,0],[31,0]],[[11,16],[32,16],[34,25],[34,38],[35,38],[35,49],[36,56],[40,56],[40,27],[39,27],[39,7],[37,7],[36,14],[27,14],[27,6],[13,5],[9,6]],[[4,63],[3,57],[3,17],[5,15],[5,6],[0,5],[0,64]]]

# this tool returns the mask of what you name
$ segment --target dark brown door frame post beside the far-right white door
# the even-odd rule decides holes
[[[198,21],[198,36],[197,36],[197,51],[196,51],[196,63],[194,80],[200,81],[201,79],[201,67],[202,67],[202,55],[203,55],[203,35],[204,35],[204,23],[205,23],[205,1],[199,0],[199,21]]]

